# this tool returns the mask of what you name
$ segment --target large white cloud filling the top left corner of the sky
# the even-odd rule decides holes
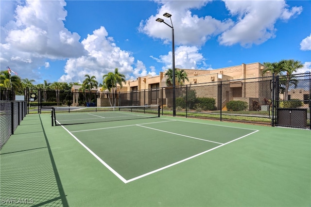
[[[64,0],[1,1],[0,63],[17,68],[21,77],[40,80],[34,68],[46,66],[47,59],[65,60],[86,54],[80,36],[64,27],[65,6]],[[9,13],[13,15],[2,18]]]

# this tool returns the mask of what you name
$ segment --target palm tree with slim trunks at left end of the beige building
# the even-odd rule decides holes
[[[117,84],[122,88],[122,82],[126,83],[125,76],[118,72],[118,68],[115,68],[115,73],[109,72],[108,74],[103,76],[103,88],[108,90],[108,98],[110,106],[112,106],[110,100],[110,91],[112,90],[112,102],[113,106],[116,106],[115,93],[117,93]]]

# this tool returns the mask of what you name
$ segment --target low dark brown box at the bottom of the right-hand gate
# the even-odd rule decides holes
[[[307,109],[278,108],[277,126],[306,128],[308,127],[307,114]]]

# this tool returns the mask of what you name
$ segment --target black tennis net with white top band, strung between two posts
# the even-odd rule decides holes
[[[52,126],[160,117],[160,106],[53,107]]]

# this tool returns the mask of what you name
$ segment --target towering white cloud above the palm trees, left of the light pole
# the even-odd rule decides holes
[[[70,58],[65,66],[66,74],[59,79],[60,81],[82,82],[84,76],[88,74],[97,77],[98,82],[102,82],[103,75],[114,71],[115,68],[118,68],[127,79],[130,78],[131,73],[136,76],[146,73],[146,68],[140,61],[133,69],[132,65],[135,63],[132,54],[117,47],[104,27],[93,31],[93,34],[88,34],[82,41],[82,45],[88,54],[79,58]]]

